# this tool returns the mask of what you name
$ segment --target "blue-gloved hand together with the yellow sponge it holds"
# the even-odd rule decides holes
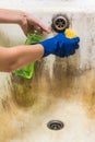
[[[44,57],[52,54],[58,57],[68,57],[73,55],[79,48],[80,38],[70,29],[60,33],[52,38],[40,42],[45,51]]]

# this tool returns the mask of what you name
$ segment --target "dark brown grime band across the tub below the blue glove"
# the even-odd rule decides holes
[[[76,59],[75,59],[76,58]],[[76,69],[78,57],[54,63],[52,79],[48,69],[45,68],[45,60],[35,66],[34,76],[26,80],[20,76],[12,76],[13,98],[19,106],[38,108],[45,105],[45,109],[60,99],[66,102],[81,102],[86,110],[87,117],[95,117],[95,70],[81,71]],[[43,109],[43,108],[41,108]],[[44,109],[44,110],[45,110]],[[49,109],[49,108],[48,108]],[[40,110],[41,111],[41,110]]]

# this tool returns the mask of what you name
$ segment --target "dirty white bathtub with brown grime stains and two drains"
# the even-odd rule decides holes
[[[49,28],[54,16],[67,15],[81,37],[74,56],[38,60],[31,80],[0,73],[0,142],[95,142],[95,1],[0,0],[0,8],[26,11]],[[0,24],[0,45],[25,40],[20,26]],[[49,129],[51,120],[63,128]]]

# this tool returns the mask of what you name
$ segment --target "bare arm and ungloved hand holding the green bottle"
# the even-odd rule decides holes
[[[36,17],[20,10],[0,9],[0,23],[19,24],[25,35],[32,32],[34,25],[39,27],[41,31],[49,33],[49,29]]]

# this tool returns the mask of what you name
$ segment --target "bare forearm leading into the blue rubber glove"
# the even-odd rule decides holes
[[[35,62],[44,55],[41,45],[0,47],[0,71],[11,72]]]

